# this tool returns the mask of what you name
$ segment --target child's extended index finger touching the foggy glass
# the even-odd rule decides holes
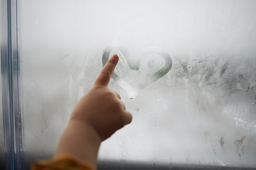
[[[107,64],[103,67],[100,75],[96,79],[94,85],[103,85],[103,86],[108,86],[110,78],[115,70],[115,67],[118,63],[119,57],[118,55],[113,55]]]

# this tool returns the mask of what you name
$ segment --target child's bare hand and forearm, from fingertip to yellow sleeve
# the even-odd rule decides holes
[[[109,59],[92,89],[75,105],[55,156],[68,153],[96,166],[101,142],[132,121],[120,95],[108,88],[118,60],[117,55]]]

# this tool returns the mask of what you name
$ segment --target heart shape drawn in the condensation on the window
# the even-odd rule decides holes
[[[112,42],[103,51],[103,67],[114,54],[119,56],[119,62],[111,78],[127,91],[130,99],[168,73],[173,65],[170,55],[159,47],[147,47],[131,56],[120,43]]]

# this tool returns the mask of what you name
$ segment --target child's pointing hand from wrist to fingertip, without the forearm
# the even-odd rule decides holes
[[[70,121],[79,120],[91,125],[102,141],[132,121],[132,115],[125,110],[120,95],[108,88],[118,60],[117,55],[110,58],[93,88],[78,101],[70,118]]]

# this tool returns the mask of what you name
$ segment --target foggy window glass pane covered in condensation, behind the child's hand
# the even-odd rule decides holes
[[[255,7],[21,1],[25,159],[54,153],[75,103],[117,53],[109,87],[133,122],[102,143],[101,161],[256,167]]]

